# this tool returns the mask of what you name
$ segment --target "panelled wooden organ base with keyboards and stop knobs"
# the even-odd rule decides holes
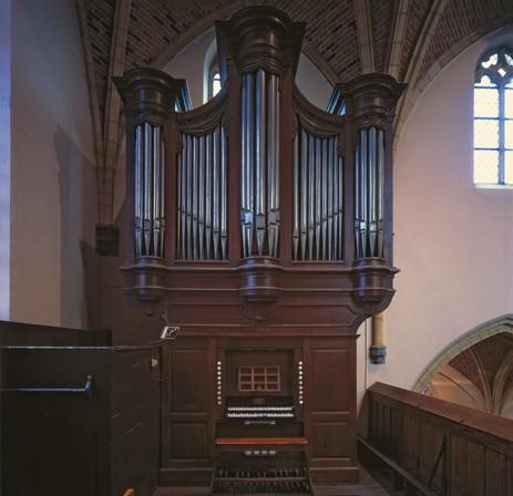
[[[290,484],[355,480],[355,345],[218,333],[163,347],[161,484],[222,485],[248,466]]]

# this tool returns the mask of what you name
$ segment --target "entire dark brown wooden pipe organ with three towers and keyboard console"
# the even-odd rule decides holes
[[[183,81],[153,69],[116,80],[126,289],[179,329],[162,347],[160,478],[308,493],[358,475],[357,329],[393,294],[403,87],[362,75],[324,112],[294,82],[302,23],[254,7],[216,30],[223,86],[201,107],[181,112]]]

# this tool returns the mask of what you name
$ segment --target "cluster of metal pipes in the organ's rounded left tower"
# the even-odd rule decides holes
[[[162,126],[135,126],[135,257],[164,257],[165,147]]]

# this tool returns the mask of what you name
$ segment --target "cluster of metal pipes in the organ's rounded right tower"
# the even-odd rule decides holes
[[[383,257],[384,136],[372,126],[358,132],[355,161],[357,258]]]

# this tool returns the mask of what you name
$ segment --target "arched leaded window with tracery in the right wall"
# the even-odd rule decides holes
[[[513,50],[478,62],[474,80],[474,184],[513,186]]]

